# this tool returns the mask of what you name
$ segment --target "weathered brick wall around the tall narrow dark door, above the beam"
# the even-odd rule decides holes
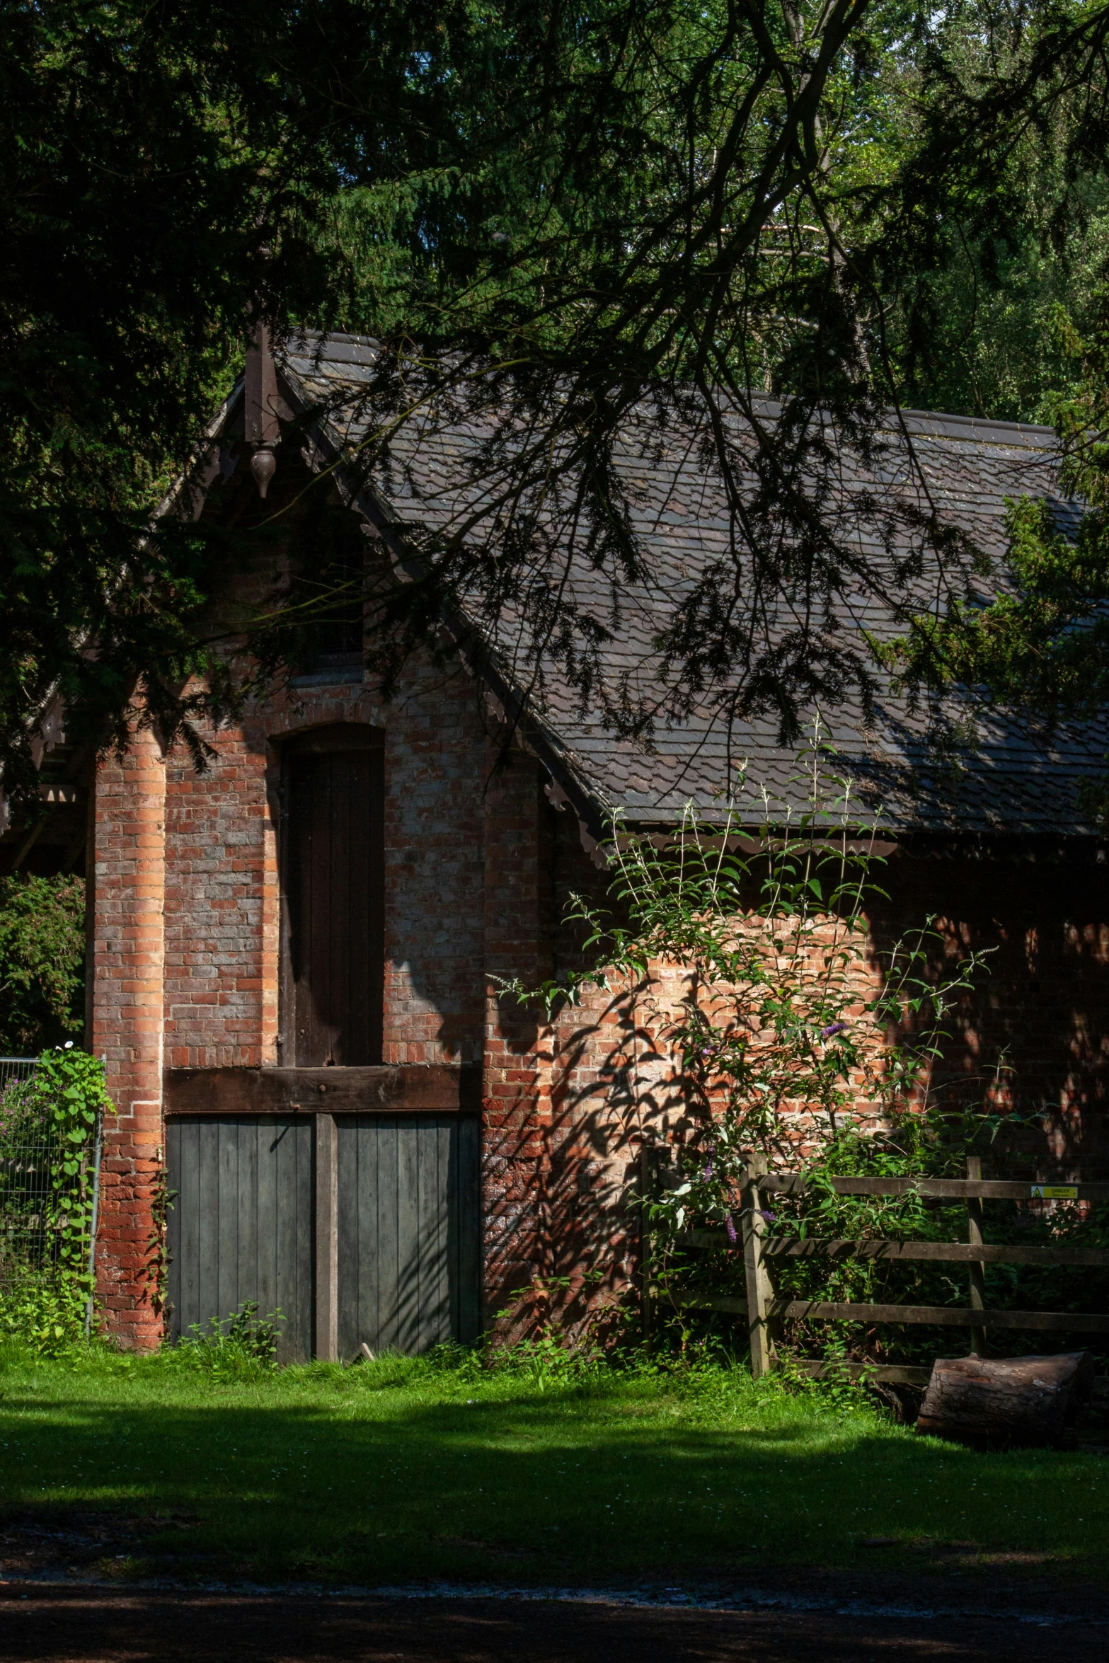
[[[472,685],[414,672],[382,707],[361,688],[306,690],[208,735],[216,762],[168,767],[166,1064],[281,1061],[276,820],[283,735],[329,722],[384,728],[384,1061],[481,1054],[484,733]]]

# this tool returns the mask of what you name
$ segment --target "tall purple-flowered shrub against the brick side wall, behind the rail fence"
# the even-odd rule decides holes
[[[688,991],[663,1038],[693,1131],[677,1152],[660,1151],[667,1182],[652,1214],[663,1287],[743,1294],[738,1219],[755,1156],[808,1177],[805,1194],[765,1202],[770,1234],[966,1234],[961,1206],[919,1194],[840,1196],[831,1184],[841,1174],[964,1176],[968,1154],[989,1152],[1008,1118],[1004,1056],[984,1074],[961,1073],[958,1091],[943,1068],[958,1008],[986,975],[988,955],[961,953],[934,918],[885,946],[875,940],[885,855],[873,817],[860,810],[816,728],[783,788],[740,772],[715,820],[687,805],[675,832],[660,836],[615,817],[605,845],[612,910],[574,896],[567,915],[592,968],[535,989],[505,984],[554,1016],[589,986],[615,991],[658,966],[685,973]],[[720,1247],[693,1247],[693,1229],[718,1231]],[[1011,1206],[1004,1219],[991,1211],[988,1227],[994,1239],[1021,1241],[1076,1231],[1091,1242],[1104,1234],[1097,1219],[1016,1216]],[[936,1262],[813,1256],[778,1259],[773,1274],[790,1299],[966,1304],[966,1271]],[[989,1267],[988,1277],[991,1304],[1029,1294],[1016,1267]],[[1067,1309],[1081,1297],[1057,1274],[1051,1281],[1059,1285],[1036,1290],[1041,1305],[1062,1299]],[[675,1307],[683,1342],[698,1320]],[[908,1359],[914,1347],[949,1347],[951,1335],[820,1324],[790,1340],[828,1355]]]

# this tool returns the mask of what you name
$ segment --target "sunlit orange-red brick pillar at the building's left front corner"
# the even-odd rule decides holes
[[[155,735],[96,773],[93,1051],[116,1114],[105,1121],[96,1290],[110,1334],[153,1349],[161,1317],[148,1285],[151,1199],[163,1152],[166,770]]]

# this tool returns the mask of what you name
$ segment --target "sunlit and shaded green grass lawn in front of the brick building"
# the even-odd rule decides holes
[[[384,1360],[251,1380],[8,1349],[0,1394],[8,1517],[146,1518],[128,1572],[612,1585],[1016,1553],[1102,1575],[1109,1548],[1104,1457],[979,1455],[742,1369],[575,1384]]]

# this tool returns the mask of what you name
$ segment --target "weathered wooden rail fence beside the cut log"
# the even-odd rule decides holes
[[[642,1157],[643,1196],[653,1191],[650,1156]],[[672,1177],[677,1184],[677,1176]],[[1071,1310],[996,1310],[986,1305],[984,1266],[988,1264],[1039,1264],[1039,1266],[1091,1266],[1109,1267],[1109,1249],[1072,1246],[994,1246],[983,1241],[983,1201],[1109,1201],[1109,1182],[1038,1184],[1009,1182],[981,1176],[981,1161],[966,1162],[966,1177],[833,1177],[831,1187],[840,1196],[906,1196],[918,1194],[936,1201],[966,1202],[964,1242],[896,1241],[868,1237],[863,1241],[830,1241],[811,1236],[770,1236],[763,1219],[763,1196],[800,1196],[816,1189],[801,1172],[768,1172],[765,1162],[752,1162],[743,1177],[738,1217],[738,1237],[743,1249],[747,1294],[743,1299],[730,1294],[682,1294],[658,1285],[650,1254],[643,1254],[643,1304],[645,1324],[650,1329],[660,1299],[670,1300],[678,1310],[718,1310],[727,1315],[747,1317],[752,1372],[758,1379],[773,1367],[773,1329],[781,1319],[815,1322],[893,1322],[931,1324],[969,1330],[971,1354],[986,1350],[988,1329],[1023,1329],[1067,1334],[1109,1334],[1109,1314]],[[682,1246],[720,1247],[727,1242],[722,1229],[685,1231],[678,1236]],[[648,1231],[643,1234],[650,1241]],[[964,1264],[968,1267],[966,1305],[866,1305],[840,1304],[820,1299],[778,1299],[773,1289],[771,1266],[776,1259],[880,1259],[883,1262],[929,1261]],[[820,1375],[826,1364],[803,1364],[810,1374]],[[866,1369],[870,1379],[903,1385],[926,1385],[929,1370],[901,1365],[870,1367],[851,1365],[853,1374]]]

